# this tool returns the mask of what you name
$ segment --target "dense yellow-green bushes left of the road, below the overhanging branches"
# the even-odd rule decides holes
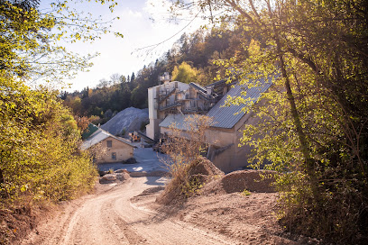
[[[79,150],[77,122],[56,95],[47,89],[31,90],[5,75],[0,87],[3,201],[24,194],[60,201],[90,190],[97,170]]]

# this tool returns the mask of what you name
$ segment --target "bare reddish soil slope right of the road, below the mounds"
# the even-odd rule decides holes
[[[277,195],[240,193],[198,195],[179,211],[179,219],[216,231],[237,244],[299,244],[281,236],[273,214]]]

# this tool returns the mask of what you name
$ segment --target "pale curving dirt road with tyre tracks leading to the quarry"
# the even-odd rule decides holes
[[[160,177],[133,177],[123,184],[67,204],[21,244],[235,244],[225,236],[201,230],[149,209],[131,198],[162,186]],[[113,184],[115,185],[115,184]]]

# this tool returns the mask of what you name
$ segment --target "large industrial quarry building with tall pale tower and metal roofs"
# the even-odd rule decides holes
[[[247,159],[251,149],[239,147],[244,125],[256,123],[252,113],[242,112],[244,105],[225,106],[227,95],[243,96],[244,99],[257,102],[262,93],[271,86],[271,80],[263,79],[260,85],[253,88],[227,84],[224,80],[206,87],[195,83],[184,84],[170,81],[169,74],[161,77],[160,86],[148,89],[149,118],[147,136],[158,140],[170,134],[170,125],[185,131],[185,120],[190,114],[206,114],[212,118],[210,128],[206,132],[206,143],[209,145],[207,159],[218,168],[230,172],[248,165]],[[242,95],[246,91],[246,95]]]

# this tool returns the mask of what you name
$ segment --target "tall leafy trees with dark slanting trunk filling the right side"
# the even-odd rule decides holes
[[[247,58],[217,61],[228,68],[229,80],[258,86],[273,77],[273,90],[262,98],[267,103],[242,98],[229,103],[244,104],[244,112],[260,120],[245,129],[242,143],[254,147],[252,160],[269,159],[268,168],[280,171],[285,224],[328,240],[368,240],[366,1],[192,5],[227,10],[253,39],[243,42]]]

